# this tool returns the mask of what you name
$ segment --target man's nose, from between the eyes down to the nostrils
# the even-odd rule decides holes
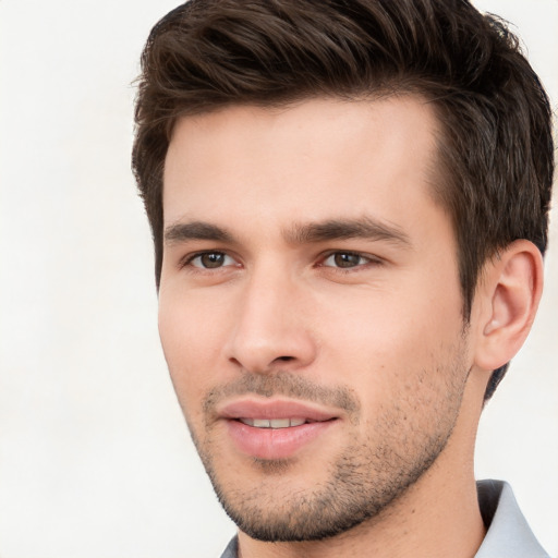
[[[304,289],[287,274],[252,274],[242,287],[226,347],[230,362],[251,373],[296,371],[316,357]]]

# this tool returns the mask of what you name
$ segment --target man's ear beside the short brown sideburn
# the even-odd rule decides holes
[[[543,258],[530,241],[517,240],[489,259],[480,279],[475,364],[494,371],[508,363],[531,330],[543,292]]]

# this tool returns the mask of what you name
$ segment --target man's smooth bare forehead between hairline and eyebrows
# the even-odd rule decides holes
[[[257,215],[284,227],[362,213],[405,220],[435,205],[436,136],[433,108],[415,96],[186,117],[167,154],[165,222]]]

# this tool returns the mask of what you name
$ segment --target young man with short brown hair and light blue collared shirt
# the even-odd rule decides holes
[[[192,0],[143,54],[159,330],[223,557],[543,557],[475,483],[534,319],[544,90],[465,1]]]

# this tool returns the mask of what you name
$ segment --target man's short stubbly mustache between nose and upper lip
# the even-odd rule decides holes
[[[204,414],[205,416],[216,415],[215,409],[223,399],[248,395],[264,398],[283,396],[335,407],[342,409],[354,420],[361,411],[360,400],[352,389],[344,386],[319,386],[299,374],[279,371],[268,374],[244,373],[233,381],[216,386],[204,399]]]

